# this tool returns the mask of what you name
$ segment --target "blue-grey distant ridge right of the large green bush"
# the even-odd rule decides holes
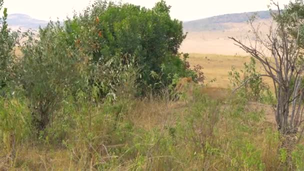
[[[212,31],[212,30],[223,30],[229,28],[224,23],[230,22],[245,22],[248,20],[249,16],[257,14],[260,19],[271,18],[268,10],[265,11],[255,11],[255,12],[243,12],[243,13],[230,13],[218,16],[212,16],[208,18],[192,20],[183,22],[183,27],[185,31]]]

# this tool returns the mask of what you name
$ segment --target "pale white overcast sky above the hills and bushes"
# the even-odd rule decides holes
[[[92,0],[93,1],[93,0]],[[122,0],[148,8],[159,0]],[[286,4],[289,0],[275,0]],[[8,13],[24,13],[37,19],[64,19],[73,10],[81,11],[90,0],[4,0]],[[187,21],[225,13],[266,10],[269,0],[166,0],[171,16]]]

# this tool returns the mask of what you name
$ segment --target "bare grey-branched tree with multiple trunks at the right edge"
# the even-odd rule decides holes
[[[277,13],[274,15],[280,18],[281,10],[278,4],[275,5]],[[263,35],[259,31],[260,27],[253,25],[253,20],[252,17],[248,21],[253,35],[253,37],[247,36],[249,42],[234,37],[229,38],[262,64],[265,74],[258,77],[266,76],[272,79],[277,100],[274,114],[279,132],[283,135],[297,133],[300,124],[304,121],[302,117],[304,86],[301,84],[304,62],[298,45],[300,24],[295,22],[296,36],[289,34],[288,25],[283,21],[277,21],[276,24],[269,26],[269,32]],[[248,80],[250,79],[253,78]]]

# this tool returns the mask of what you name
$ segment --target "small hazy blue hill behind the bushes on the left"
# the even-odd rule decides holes
[[[9,27],[16,29],[37,29],[39,26],[44,27],[47,25],[48,21],[39,20],[30,17],[29,15],[21,14],[21,13],[14,13],[9,14],[7,17],[7,23]]]

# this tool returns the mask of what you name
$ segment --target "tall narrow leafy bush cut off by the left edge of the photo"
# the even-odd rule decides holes
[[[2,6],[3,0],[0,0],[0,10]],[[30,112],[27,99],[15,96],[13,88],[8,86],[16,76],[14,52],[19,32],[11,31],[6,20],[7,8],[4,8],[0,18],[0,146],[3,147],[0,147],[0,151],[4,149],[4,161],[12,161],[15,146],[30,132]]]

